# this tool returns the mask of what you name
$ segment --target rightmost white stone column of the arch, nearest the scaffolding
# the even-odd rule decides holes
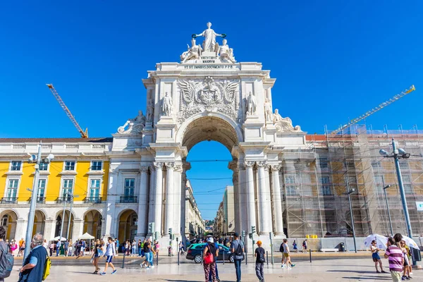
[[[271,192],[273,195],[273,218],[275,221],[275,235],[283,235],[281,184],[279,183],[279,169],[281,166],[271,166]]]

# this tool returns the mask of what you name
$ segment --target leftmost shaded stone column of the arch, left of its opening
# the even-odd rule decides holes
[[[147,184],[148,184],[148,166],[141,166],[141,181],[140,181],[140,194],[138,197],[138,224],[137,236],[145,237],[147,235]]]

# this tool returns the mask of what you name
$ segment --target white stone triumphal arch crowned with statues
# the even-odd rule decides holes
[[[270,71],[261,63],[238,62],[235,54],[226,35],[207,23],[204,32],[192,35],[178,62],[157,63],[148,71],[142,80],[147,111],[114,134],[106,233],[115,235],[118,215],[133,209],[137,237],[152,235],[148,223],[154,222],[159,237],[168,237],[172,228],[180,238],[190,169],[186,157],[198,142],[215,140],[233,157],[228,167],[233,171],[235,231],[251,233],[255,226],[256,240],[264,242],[269,233],[284,236],[281,159],[285,150],[305,148],[305,132],[281,116],[283,105],[279,114],[273,104]],[[131,191],[125,179],[135,180],[136,201],[116,198]]]

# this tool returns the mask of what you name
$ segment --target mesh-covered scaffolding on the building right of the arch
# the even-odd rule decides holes
[[[307,135],[307,149],[285,150],[283,168],[283,223],[289,238],[352,236],[348,190],[351,194],[355,233],[390,233],[384,185],[393,219],[393,231],[405,233],[405,220],[393,159],[379,155],[392,151],[391,138],[412,157],[401,162],[412,230],[423,233],[423,130],[367,130],[351,125],[336,135]]]

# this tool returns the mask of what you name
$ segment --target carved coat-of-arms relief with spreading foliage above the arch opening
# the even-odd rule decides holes
[[[178,80],[180,103],[178,121],[204,111],[219,111],[231,118],[239,113],[239,82],[223,80],[215,82],[210,76],[202,82],[194,80]]]

